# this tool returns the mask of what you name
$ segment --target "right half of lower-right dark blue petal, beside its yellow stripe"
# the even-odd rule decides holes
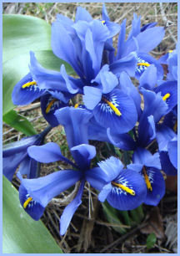
[[[157,206],[165,194],[165,182],[163,174],[156,168],[147,168],[147,175],[153,191],[148,190],[144,203]]]

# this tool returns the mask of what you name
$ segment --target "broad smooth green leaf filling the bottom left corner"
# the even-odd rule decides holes
[[[34,221],[20,206],[18,191],[3,177],[2,252],[62,253],[42,221]]]

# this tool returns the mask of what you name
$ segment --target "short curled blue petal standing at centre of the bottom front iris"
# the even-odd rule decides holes
[[[73,146],[71,151],[76,151],[76,162],[80,170],[86,170],[90,167],[91,159],[96,156],[96,148],[92,145],[81,144]]]

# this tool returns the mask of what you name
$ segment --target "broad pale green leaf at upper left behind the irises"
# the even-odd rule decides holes
[[[40,18],[26,15],[3,15],[3,115],[13,110],[13,87],[28,74],[29,51],[33,51],[46,69],[60,70],[65,64],[67,74],[74,74],[72,67],[58,59],[51,48],[51,26]]]

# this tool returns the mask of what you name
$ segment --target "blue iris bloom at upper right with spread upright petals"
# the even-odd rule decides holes
[[[148,53],[161,43],[165,30],[163,27],[154,27],[156,23],[147,24],[141,29],[140,17],[134,13],[132,30],[126,40],[126,19],[121,24],[118,37],[116,59],[122,59],[132,52],[137,53],[135,77],[139,79],[143,72],[152,64],[156,66],[158,79],[163,79],[163,67],[160,62]],[[152,40],[152,37],[154,40]]]

